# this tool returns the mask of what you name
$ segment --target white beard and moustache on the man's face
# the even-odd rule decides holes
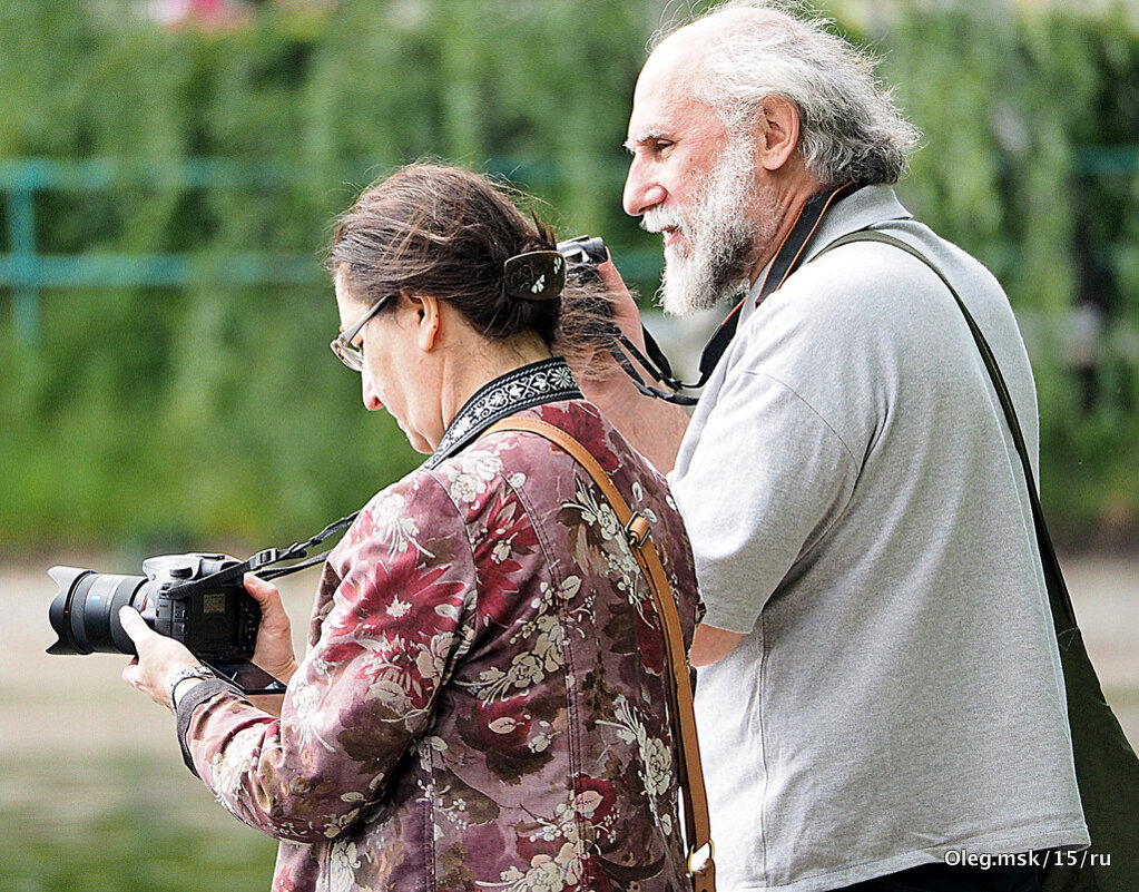
[[[732,139],[687,214],[654,207],[641,216],[649,232],[679,228],[687,245],[687,252],[664,248],[657,300],[665,313],[707,310],[749,285],[755,257],[778,227],[773,191],[756,181],[752,152],[749,140]]]

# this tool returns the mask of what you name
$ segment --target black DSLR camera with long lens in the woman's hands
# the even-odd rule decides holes
[[[246,694],[285,686],[249,661],[257,641],[261,607],[241,579],[249,562],[226,555],[164,555],[142,562],[145,576],[56,566],[59,587],[48,619],[59,640],[49,654],[133,654],[134,643],[118,622],[134,607],[147,625],[181,641],[220,678]]]

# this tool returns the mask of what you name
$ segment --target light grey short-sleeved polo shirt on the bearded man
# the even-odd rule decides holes
[[[954,284],[1035,458],[1000,285],[887,187],[836,205],[808,257],[868,226]],[[1023,473],[932,271],[866,243],[804,263],[741,318],[670,482],[705,622],[745,633],[697,686],[721,892],[1088,843]]]

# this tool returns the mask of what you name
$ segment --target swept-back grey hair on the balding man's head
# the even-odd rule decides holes
[[[724,28],[703,57],[694,96],[737,137],[765,97],[780,96],[798,111],[804,163],[825,186],[896,182],[920,133],[875,77],[876,59],[827,31],[825,21],[793,14],[801,8],[786,0],[728,0],[708,10],[702,18],[735,9],[767,15]],[[662,31],[656,42],[678,27]]]

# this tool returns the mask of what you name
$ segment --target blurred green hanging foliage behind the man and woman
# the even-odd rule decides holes
[[[658,240],[621,211],[621,142],[664,0],[223,6],[239,15],[210,27],[161,26],[146,11],[157,5],[126,0],[0,7],[0,170],[109,164],[34,188],[9,166],[6,249],[27,219],[23,188],[38,255],[189,263],[166,284],[34,288],[9,263],[9,551],[284,545],[413,467],[328,352],[337,318],[320,267],[331,219],[396,164],[509,177],[549,203],[559,234],[604,235],[626,278],[655,290]],[[1131,14],[823,8],[883,56],[925,133],[903,199],[993,269],[1022,320],[1056,532],[1139,543]],[[222,166],[200,173],[200,159]],[[239,272],[249,255],[264,281]]]

